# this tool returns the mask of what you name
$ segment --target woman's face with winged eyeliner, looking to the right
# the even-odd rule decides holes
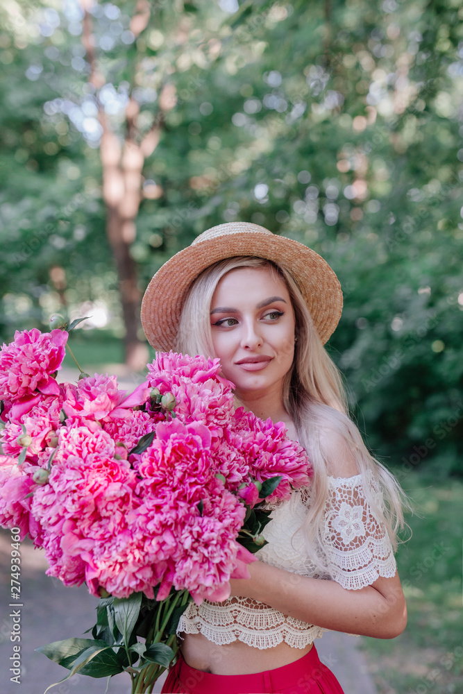
[[[294,358],[294,311],[285,282],[270,268],[237,268],[219,280],[210,307],[212,343],[238,396],[281,398]]]

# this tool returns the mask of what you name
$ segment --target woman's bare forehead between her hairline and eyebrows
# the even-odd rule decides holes
[[[217,282],[212,304],[224,298],[231,300],[249,297],[250,300],[253,300],[258,295],[261,298],[281,296],[287,303],[291,303],[285,280],[271,266],[264,266],[260,268],[239,267],[228,271]]]

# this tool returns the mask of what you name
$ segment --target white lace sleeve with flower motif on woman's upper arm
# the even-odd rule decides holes
[[[380,576],[392,578],[392,544],[364,497],[362,476],[328,477],[328,482],[323,550],[330,576],[350,590],[370,586]],[[371,484],[380,505],[380,492]]]

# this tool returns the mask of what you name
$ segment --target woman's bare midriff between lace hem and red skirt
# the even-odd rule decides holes
[[[292,648],[283,641],[273,648],[260,650],[242,641],[217,645],[203,634],[181,634],[180,638],[180,650],[187,665],[212,672],[212,675],[252,675],[282,668],[302,658],[312,645]]]

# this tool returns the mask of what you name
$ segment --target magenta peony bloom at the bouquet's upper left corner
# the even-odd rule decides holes
[[[52,374],[61,368],[66,342],[65,330],[15,332],[15,341],[0,350],[0,400],[24,405],[37,393],[58,396]]]

